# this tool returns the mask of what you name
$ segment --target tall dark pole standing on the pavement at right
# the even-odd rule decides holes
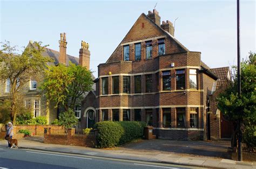
[[[240,69],[240,1],[237,0],[237,81],[238,81],[238,97],[241,95],[241,69]],[[239,112],[241,113],[241,112]],[[242,161],[242,132],[241,118],[238,119],[238,160]]]

